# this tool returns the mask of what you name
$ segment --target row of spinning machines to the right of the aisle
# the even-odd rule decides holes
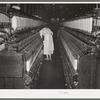
[[[100,17],[64,21],[58,38],[67,88],[100,88]]]

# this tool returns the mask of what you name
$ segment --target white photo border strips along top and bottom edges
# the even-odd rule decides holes
[[[2,1],[2,2],[1,2]],[[15,3],[20,3],[20,4],[100,4],[99,0],[85,0],[85,1],[81,1],[78,0],[77,2],[72,2],[71,0],[69,0],[68,2],[63,1],[63,0],[59,0],[59,1],[47,1],[47,2],[28,2],[28,0],[1,0],[0,4],[15,4]],[[11,2],[10,2],[11,1]],[[61,2],[62,1],[62,2]],[[9,99],[10,98],[10,99]],[[77,100],[77,99],[99,99],[100,98],[100,90],[99,89],[0,89],[0,99],[1,100],[14,100],[14,99],[73,99],[73,100]],[[19,99],[19,100],[20,100]]]

